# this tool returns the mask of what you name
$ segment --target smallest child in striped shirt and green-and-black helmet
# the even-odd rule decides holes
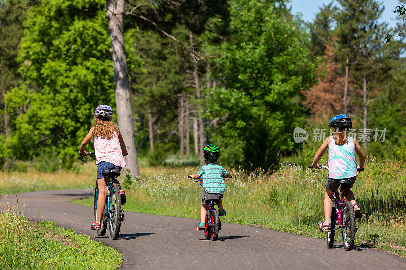
[[[214,201],[219,207],[219,216],[225,216],[226,212],[223,208],[223,198],[225,191],[224,178],[231,178],[231,174],[227,172],[222,166],[216,164],[220,158],[220,149],[210,144],[203,149],[205,157],[205,165],[201,166],[197,174],[190,175],[193,179],[201,178],[202,186],[204,187],[203,194],[201,195],[201,208],[200,208],[200,223],[196,228],[199,230],[205,229],[205,218],[207,210],[209,209],[209,202]]]

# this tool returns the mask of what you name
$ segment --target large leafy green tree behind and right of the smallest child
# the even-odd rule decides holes
[[[241,149],[239,164],[250,170],[277,168],[281,151],[293,149],[291,132],[304,112],[300,91],[316,79],[300,22],[275,9],[262,1],[232,1],[232,36],[218,48],[208,46],[219,57],[216,78],[224,78],[227,89],[207,90],[206,116],[222,119],[214,130],[227,138],[226,147]]]

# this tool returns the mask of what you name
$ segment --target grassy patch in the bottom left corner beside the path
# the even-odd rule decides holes
[[[53,222],[29,222],[6,207],[0,211],[0,269],[117,269],[122,263],[112,247]]]

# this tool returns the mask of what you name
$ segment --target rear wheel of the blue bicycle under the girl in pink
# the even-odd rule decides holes
[[[117,239],[121,226],[121,197],[120,188],[113,183],[110,188],[109,228],[111,239]]]

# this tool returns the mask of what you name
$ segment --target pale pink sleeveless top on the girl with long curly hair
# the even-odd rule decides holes
[[[111,139],[94,137],[94,151],[96,152],[96,165],[101,161],[107,161],[116,166],[125,166],[120,141],[115,131],[113,131]]]

